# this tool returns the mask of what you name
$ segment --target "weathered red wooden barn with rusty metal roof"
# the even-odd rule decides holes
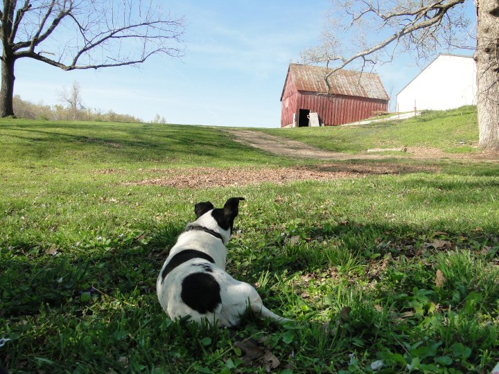
[[[290,64],[281,95],[281,127],[308,126],[317,113],[325,126],[342,125],[388,110],[389,96],[377,74],[338,70],[328,87],[324,78],[331,69]]]

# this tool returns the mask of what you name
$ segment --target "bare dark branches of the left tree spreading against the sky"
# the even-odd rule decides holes
[[[12,28],[12,38],[8,42],[7,47],[15,59],[29,57],[69,71],[136,65],[158,53],[173,57],[182,55],[180,37],[184,20],[161,16],[161,10],[152,7],[152,1],[144,6],[142,1],[133,0],[123,3],[45,0],[40,1],[37,8],[31,8],[30,1],[24,0],[24,6],[17,10],[15,28]],[[15,7],[14,0],[4,0],[4,3]],[[10,8],[4,8],[4,12],[6,10]],[[26,19],[23,29],[26,37],[18,40],[17,28],[28,12],[33,12],[33,16]],[[65,39],[59,43],[59,52],[54,57],[37,53],[38,46],[45,50],[51,48],[46,42],[59,30],[60,24],[64,24],[65,30],[72,28],[76,33],[71,36],[59,32],[58,37]]]

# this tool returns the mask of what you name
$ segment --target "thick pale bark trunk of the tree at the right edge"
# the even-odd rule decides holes
[[[478,143],[499,150],[499,0],[476,3]]]

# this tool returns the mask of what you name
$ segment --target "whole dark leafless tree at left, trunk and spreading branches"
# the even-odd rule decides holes
[[[155,54],[182,55],[184,20],[153,0],[3,0],[0,116],[13,116],[15,62],[64,71],[137,66]]]

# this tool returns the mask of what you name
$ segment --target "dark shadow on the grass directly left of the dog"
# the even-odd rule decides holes
[[[1,258],[0,317],[21,317],[75,303],[85,308],[85,293],[130,294],[137,287],[144,293],[155,292],[155,278],[168,248],[183,229],[158,225],[147,242],[141,237],[116,238],[101,245],[82,240],[77,247],[42,249],[41,253],[36,242],[12,242]]]

